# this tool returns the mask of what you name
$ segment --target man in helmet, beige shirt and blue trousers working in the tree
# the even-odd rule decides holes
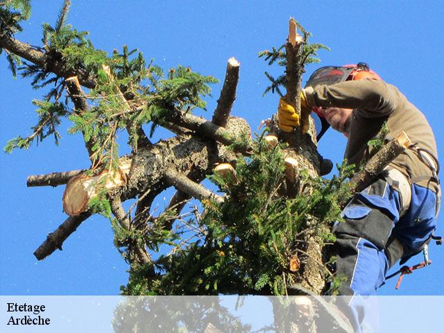
[[[348,136],[344,157],[357,168],[384,123],[386,139],[404,131],[414,143],[355,194],[343,210],[345,222],[334,226],[336,274],[345,278],[340,295],[374,295],[388,268],[419,253],[436,228],[440,187],[432,129],[420,110],[364,63],[315,71],[302,89],[301,109],[299,117],[281,99],[280,128],[291,132],[301,126],[305,133],[308,115],[316,111]],[[352,307],[355,329],[363,316],[364,308]]]

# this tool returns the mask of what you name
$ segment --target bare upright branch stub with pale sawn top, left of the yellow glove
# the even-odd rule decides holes
[[[225,81],[221,90],[221,96],[217,101],[217,108],[214,111],[212,123],[225,127],[230,117],[230,112],[234,99],[236,99],[236,87],[239,80],[239,61],[235,58],[228,59]]]

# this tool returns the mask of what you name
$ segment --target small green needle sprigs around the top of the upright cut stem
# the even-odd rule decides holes
[[[309,44],[308,40],[309,37],[311,37],[311,33],[307,32],[304,27],[302,27],[300,24],[296,23],[298,25],[299,30],[302,32],[302,40],[304,41],[302,44],[300,44],[300,49],[302,49],[300,56],[298,58],[298,63],[300,64],[300,67],[303,68],[305,65],[313,63],[313,62],[320,62],[319,58],[317,58],[318,51],[320,49],[325,49],[327,51],[330,51],[330,49],[323,45],[323,44]],[[268,62],[268,66],[273,65],[275,62],[281,66],[286,67],[287,66],[287,55],[285,52],[285,45],[282,45],[278,48],[275,46],[272,47],[271,51],[265,50],[261,51],[258,54],[259,58],[264,58],[266,62]],[[266,87],[264,91],[264,95],[268,92],[272,92],[273,94],[277,92],[280,96],[284,96],[282,94],[282,91],[280,90],[280,87],[285,87],[285,74],[279,76],[278,78],[274,78],[271,74],[268,73],[268,71],[265,72],[265,76],[270,80],[271,85]]]

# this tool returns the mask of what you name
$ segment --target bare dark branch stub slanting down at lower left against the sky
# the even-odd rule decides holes
[[[51,255],[55,250],[62,250],[63,242],[77,230],[80,223],[91,216],[90,212],[83,212],[78,216],[70,216],[63,222],[56,231],[51,232],[46,240],[35,250],[34,255],[37,260],[42,260]]]

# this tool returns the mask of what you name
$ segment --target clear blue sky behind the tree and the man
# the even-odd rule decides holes
[[[33,1],[31,19],[17,38],[40,44],[42,22],[56,21],[62,0]],[[434,129],[438,155],[443,156],[442,125],[444,5],[441,1],[81,1],[73,0],[68,22],[90,32],[97,48],[112,52],[127,44],[153,58],[164,69],[191,66],[201,74],[223,80],[228,58],[241,62],[240,80],[232,114],[244,117],[255,130],[275,112],[278,96],[262,96],[268,85],[264,71],[272,71],[257,53],[280,46],[287,37],[289,17],[313,33],[312,42],[330,46],[321,51],[321,65],[367,62],[400,90],[422,112]],[[310,65],[307,74],[321,65]],[[281,70],[281,69],[279,69]],[[305,80],[308,78],[305,76]],[[14,80],[4,56],[0,58],[0,143],[29,135],[36,123],[32,99],[42,92],[29,80]],[[221,83],[213,86],[208,114],[214,110]],[[28,151],[0,154],[0,293],[24,295],[113,295],[126,284],[128,266],[112,244],[108,220],[94,216],[42,262],[33,251],[66,215],[63,187],[26,188],[26,177],[88,167],[79,136],[66,133],[56,146],[48,139]],[[341,162],[345,138],[329,131],[320,152]],[[121,153],[126,153],[122,149]],[[164,202],[158,203],[163,207]],[[439,218],[439,232],[444,233]],[[431,246],[432,266],[402,282],[380,289],[380,294],[444,295],[444,248]],[[418,256],[411,264],[422,261]]]

